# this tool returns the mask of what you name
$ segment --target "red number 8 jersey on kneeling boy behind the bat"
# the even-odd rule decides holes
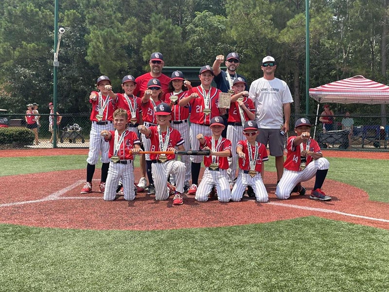
[[[151,140],[150,151],[162,151],[159,148],[158,126],[151,126],[149,130],[151,131],[151,133],[146,138]],[[170,131],[169,144],[167,145],[168,148],[176,147],[184,144],[185,141],[182,139],[181,134],[179,133],[178,130],[172,127],[168,127],[167,130]],[[167,131],[162,132],[162,139],[165,139],[166,133]],[[157,160],[159,159],[159,155],[160,154],[150,154],[150,159]],[[176,154],[169,154],[166,155],[166,157],[168,160],[176,159]]]

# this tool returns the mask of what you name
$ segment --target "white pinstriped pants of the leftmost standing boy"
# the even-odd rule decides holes
[[[104,141],[104,137],[101,135],[101,131],[103,130],[112,131],[113,124],[108,122],[106,125],[97,125],[96,123],[92,122],[89,135],[89,152],[87,158],[88,164],[97,164],[99,161],[100,153],[102,163],[110,162],[110,159],[108,158],[109,143]]]

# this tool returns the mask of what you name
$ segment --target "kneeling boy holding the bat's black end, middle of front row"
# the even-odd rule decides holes
[[[204,137],[202,133],[196,136],[200,149],[211,151],[209,156],[204,156],[205,171],[197,188],[196,201],[208,201],[212,187],[216,187],[217,199],[220,202],[228,202],[231,199],[227,175],[227,157],[231,156],[231,141],[221,136],[225,127],[223,118],[216,116],[211,120],[212,136]]]

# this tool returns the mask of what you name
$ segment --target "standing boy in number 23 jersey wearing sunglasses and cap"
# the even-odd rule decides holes
[[[148,127],[157,126],[157,117],[155,116],[155,110],[157,106],[162,102],[163,96],[161,83],[157,78],[150,79],[147,82],[147,90],[144,91],[144,95],[141,98],[141,109],[143,125]],[[143,147],[145,151],[150,151],[150,140],[146,139],[144,134],[141,135]],[[145,154],[146,160],[146,173],[149,179],[148,195],[155,194],[155,186],[153,182],[153,176],[151,175],[151,159],[150,154]]]

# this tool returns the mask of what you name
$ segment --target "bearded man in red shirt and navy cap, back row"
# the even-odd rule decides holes
[[[163,55],[159,52],[151,54],[149,65],[150,72],[144,73],[143,75],[135,78],[137,87],[134,90],[134,95],[142,97],[144,95],[144,91],[147,90],[147,82],[153,78],[157,78],[159,80],[162,86],[162,91],[164,93],[169,92],[168,85],[170,82],[170,77],[166,76],[165,74],[162,74],[162,68],[165,65],[165,63],[163,62]]]

